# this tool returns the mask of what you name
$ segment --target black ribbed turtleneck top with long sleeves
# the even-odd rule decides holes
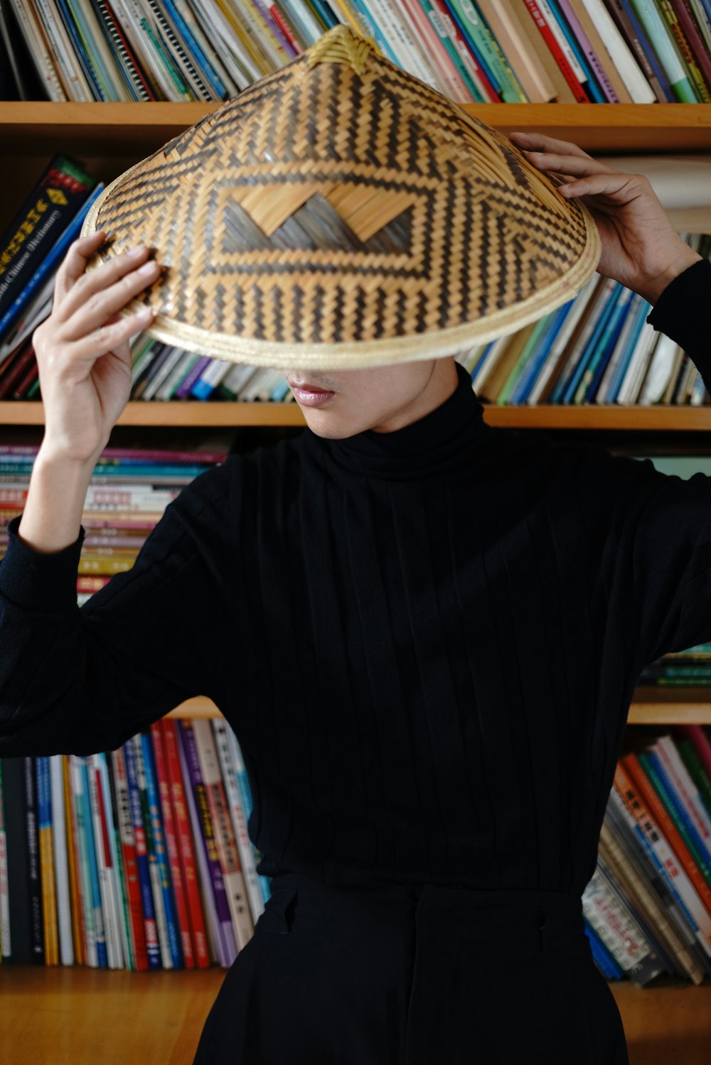
[[[711,265],[649,321],[711,384]],[[191,695],[242,746],[259,871],[582,892],[642,668],[711,640],[711,478],[419,421],[230,456],[84,606],[9,523],[0,754],[113,749]],[[711,414],[710,414],[711,417]]]

